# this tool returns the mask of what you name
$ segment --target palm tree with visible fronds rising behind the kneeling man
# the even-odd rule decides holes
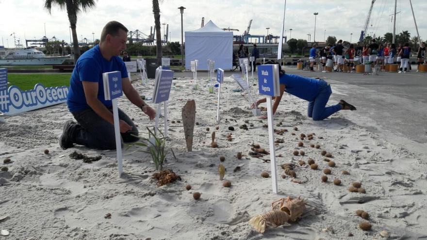
[[[58,6],[61,10],[66,10],[68,20],[70,21],[71,32],[73,35],[74,64],[80,56],[79,40],[77,38],[76,24],[77,15],[83,11],[87,12],[95,7],[95,0],[45,0],[44,8],[51,14],[52,6]]]

